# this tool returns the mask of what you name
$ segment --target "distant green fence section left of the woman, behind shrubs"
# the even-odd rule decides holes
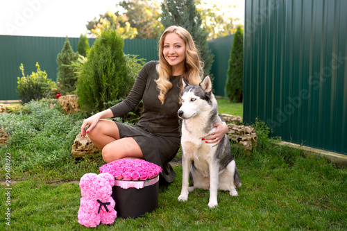
[[[46,71],[48,78],[56,81],[58,64],[56,58],[62,51],[65,37],[31,37],[0,35],[0,100],[19,99],[17,77],[24,65],[25,74],[36,71],[35,64]],[[77,51],[78,37],[69,37],[72,49]],[[89,38],[90,46],[95,39]],[[124,40],[124,53],[138,55],[145,60],[158,60],[157,40]]]

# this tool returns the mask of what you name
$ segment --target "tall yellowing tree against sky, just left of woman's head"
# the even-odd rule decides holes
[[[119,3],[124,8],[130,26],[137,29],[138,39],[158,39],[163,30],[160,22],[160,5],[148,0],[124,0]]]

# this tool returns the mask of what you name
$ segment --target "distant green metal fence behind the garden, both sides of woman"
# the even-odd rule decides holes
[[[25,74],[35,70],[35,63],[46,71],[47,77],[56,80],[58,53],[62,50],[65,37],[29,37],[0,35],[0,101],[19,99],[17,77],[22,76],[19,66],[24,65]],[[74,51],[79,38],[69,37]],[[90,46],[95,39],[88,39]],[[232,45],[232,36],[210,40],[214,64],[211,74],[214,76],[215,94],[224,96],[228,58]],[[145,60],[158,60],[158,40],[124,40],[124,53],[138,55]]]

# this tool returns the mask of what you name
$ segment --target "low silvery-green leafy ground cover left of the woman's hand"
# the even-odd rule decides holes
[[[0,114],[1,128],[10,135],[1,152],[11,153],[12,166],[18,171],[64,166],[72,160],[71,146],[82,123],[72,118],[58,105],[49,108],[38,101],[24,105],[20,112]]]

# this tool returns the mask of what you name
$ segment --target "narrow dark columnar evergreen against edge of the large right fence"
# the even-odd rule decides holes
[[[244,92],[244,35],[241,27],[238,27],[235,33],[228,63],[226,96],[232,102],[242,102]]]

